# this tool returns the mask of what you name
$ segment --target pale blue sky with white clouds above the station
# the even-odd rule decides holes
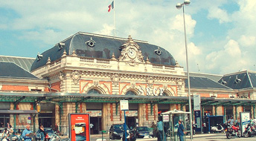
[[[0,55],[36,58],[77,32],[139,39],[168,50],[186,71],[182,0],[0,0]],[[185,6],[189,71],[256,71],[256,1]],[[114,27],[115,10],[115,27]]]

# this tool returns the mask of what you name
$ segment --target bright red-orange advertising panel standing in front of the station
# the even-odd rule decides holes
[[[89,114],[69,114],[68,115],[68,137],[72,141],[90,140],[90,117]]]

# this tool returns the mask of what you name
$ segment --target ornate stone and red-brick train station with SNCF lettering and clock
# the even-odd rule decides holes
[[[98,134],[124,122],[123,99],[129,100],[129,127],[150,127],[164,111],[188,111],[187,75],[164,47],[83,32],[53,46],[35,58],[0,56],[2,126],[42,124],[67,134],[68,113],[89,113],[91,133]],[[255,71],[190,76],[202,116],[239,119],[249,111],[255,118]]]

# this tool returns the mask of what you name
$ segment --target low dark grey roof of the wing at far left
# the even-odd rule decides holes
[[[2,77],[38,79],[30,72],[14,64],[14,62],[0,62],[0,78]]]

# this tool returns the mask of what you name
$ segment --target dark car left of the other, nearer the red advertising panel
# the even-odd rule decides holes
[[[128,127],[127,127],[128,129]],[[124,132],[124,125],[123,124],[113,124],[111,125],[109,129],[109,139],[115,140],[121,140],[123,137]]]

